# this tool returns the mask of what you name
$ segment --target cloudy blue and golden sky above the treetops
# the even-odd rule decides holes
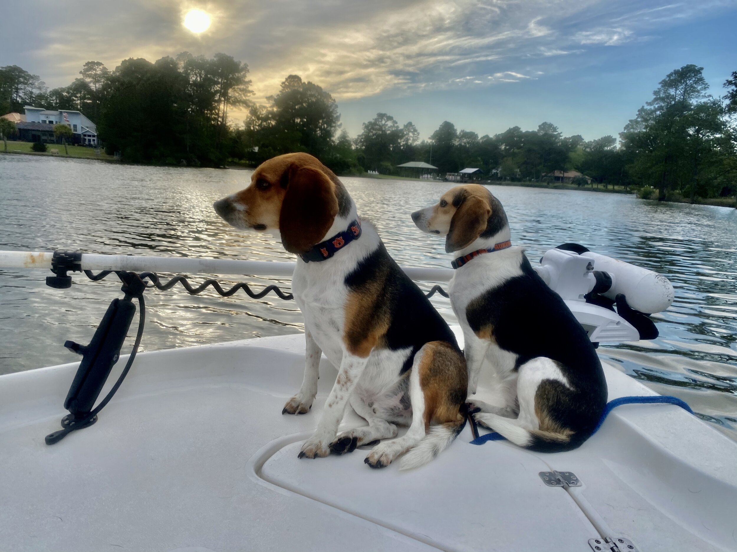
[[[193,8],[212,16],[199,35]],[[321,85],[352,137],[378,112],[422,138],[446,120],[617,136],[669,71],[704,67],[716,96],[737,71],[737,0],[0,0],[0,14],[0,66],[49,88],[88,60],[225,52],[256,102],[288,74]]]

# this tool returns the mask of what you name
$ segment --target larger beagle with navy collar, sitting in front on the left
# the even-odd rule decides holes
[[[300,458],[352,452],[380,440],[365,461],[402,469],[427,463],[464,427],[466,361],[453,332],[359,219],[338,177],[305,153],[262,163],[244,190],[214,203],[242,229],[281,237],[298,255],[292,291],[304,314],[304,381],[282,414],[306,414],[321,353],[338,367],[317,430]],[[337,435],[346,404],[368,426]],[[433,425],[430,427],[430,425]],[[397,438],[398,425],[409,425]]]

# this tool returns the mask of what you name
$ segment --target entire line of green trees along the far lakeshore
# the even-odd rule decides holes
[[[480,137],[450,121],[420,141],[411,121],[400,124],[387,113],[377,113],[351,138],[328,91],[289,75],[278,93],[256,104],[248,65],[226,54],[184,52],[155,63],[131,58],[114,71],[90,61],[80,75],[49,91],[37,75],[2,67],[0,112],[24,105],[83,111],[97,124],[108,153],[139,163],[256,166],[303,151],[338,174],[399,174],[397,165],[425,161],[441,175],[478,168],[484,180],[549,182],[553,171],[575,169],[595,183],[636,186],[659,199],[737,191],[737,71],[724,83],[722,97],[709,94],[703,68],[671,71],[619,139],[592,141],[563,136],[550,122]],[[228,118],[233,107],[248,110],[243,124]]]

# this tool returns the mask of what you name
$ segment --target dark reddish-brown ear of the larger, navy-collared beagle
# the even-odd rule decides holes
[[[323,171],[299,166],[285,171],[282,185],[287,188],[279,213],[282,244],[292,253],[307,252],[321,241],[338,214],[335,185]]]

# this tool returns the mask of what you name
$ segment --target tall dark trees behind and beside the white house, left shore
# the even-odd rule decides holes
[[[233,142],[228,110],[250,105],[253,93],[248,65],[227,54],[130,58],[114,71],[90,61],[80,74],[49,91],[38,75],[1,67],[0,112],[77,110],[97,125],[106,152],[125,161],[222,166]]]

